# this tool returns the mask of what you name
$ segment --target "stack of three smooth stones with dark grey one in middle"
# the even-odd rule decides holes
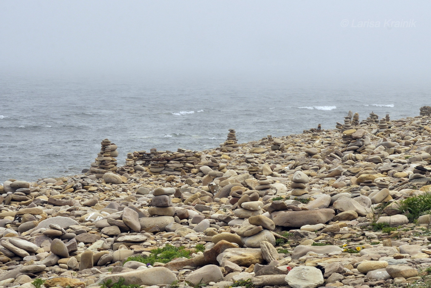
[[[150,216],[171,216],[175,214],[175,207],[172,207],[171,195],[174,195],[175,188],[159,187],[153,191],[151,206],[147,209]]]

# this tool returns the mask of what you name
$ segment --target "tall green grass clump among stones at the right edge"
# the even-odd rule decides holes
[[[431,211],[431,193],[415,195],[404,200],[398,204],[399,210],[409,218],[409,222],[418,219],[419,216],[429,214]]]

